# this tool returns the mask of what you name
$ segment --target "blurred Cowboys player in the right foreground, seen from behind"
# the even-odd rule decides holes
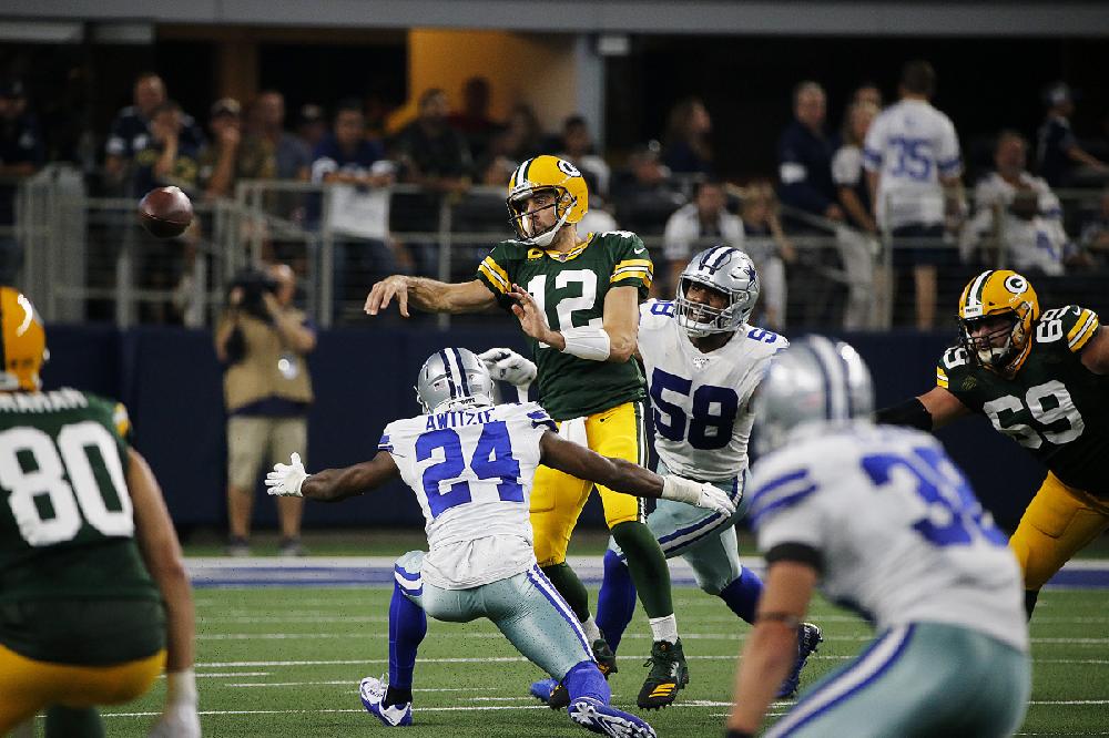
[[[754,400],[751,520],[769,565],[729,736],[751,736],[817,582],[877,638],[766,736],[1008,736],[1030,690],[1020,568],[939,442],[874,426],[854,349],[812,337]],[[760,449],[762,451],[763,449]]]

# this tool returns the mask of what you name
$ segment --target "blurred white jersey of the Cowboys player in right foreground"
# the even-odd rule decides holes
[[[802,429],[760,459],[752,489],[760,551],[817,551],[821,591],[879,632],[945,623],[1028,650],[1017,560],[933,435]]]

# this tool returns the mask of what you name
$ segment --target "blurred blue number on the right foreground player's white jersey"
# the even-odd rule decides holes
[[[984,514],[981,503],[954,465],[936,449],[913,449],[912,457],[877,453],[863,458],[863,470],[881,486],[889,482],[894,469],[913,475],[916,493],[928,506],[913,529],[929,543],[944,547],[969,545],[974,534],[997,545],[1005,536]]]

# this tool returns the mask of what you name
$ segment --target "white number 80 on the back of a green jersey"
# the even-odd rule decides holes
[[[115,488],[119,510],[109,510],[89,460],[96,449]],[[60,452],[60,453],[59,453]],[[20,455],[29,454],[34,469],[27,471]],[[67,481],[67,476],[69,481]],[[82,516],[104,535],[131,536],[134,519],[116,440],[93,421],[72,423],[58,433],[57,445],[35,428],[12,428],[0,433],[0,486],[11,490],[8,504],[19,532],[32,546],[45,546],[77,536]],[[38,498],[48,496],[50,516]]]

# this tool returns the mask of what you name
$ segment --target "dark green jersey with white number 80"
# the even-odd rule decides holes
[[[122,404],[0,393],[0,604],[160,599],[134,540]]]

